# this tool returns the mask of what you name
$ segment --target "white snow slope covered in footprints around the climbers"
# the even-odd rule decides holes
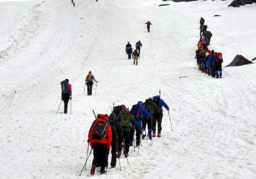
[[[254,58],[255,3],[161,3],[78,0],[73,8],[60,0],[0,2],[0,178],[255,177],[255,64],[224,68],[227,74],[213,79],[197,72],[194,58],[200,17],[213,34],[209,49],[222,52],[223,66],[237,54]],[[143,48],[134,66],[125,59],[125,45],[135,47],[138,40]],[[96,95],[94,89],[86,96],[90,70],[99,83]],[[67,115],[63,104],[56,114],[65,78],[72,104]],[[159,90],[171,109],[173,133],[164,111],[163,137],[142,141],[139,154],[130,148],[130,165],[122,156],[121,171],[117,161],[106,176],[90,176],[90,156],[79,177],[92,110],[109,114],[113,102],[131,108]]]

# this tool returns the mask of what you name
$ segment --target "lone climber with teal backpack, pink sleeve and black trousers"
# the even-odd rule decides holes
[[[67,104],[72,99],[72,87],[68,79],[61,81],[61,100],[64,102],[64,114],[67,114]]]

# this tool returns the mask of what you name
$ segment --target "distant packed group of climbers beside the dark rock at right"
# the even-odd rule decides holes
[[[198,41],[198,49],[195,51],[195,58],[197,60],[198,71],[204,72],[212,78],[222,78],[222,54],[221,52],[214,52],[209,50],[212,33],[207,31],[207,25],[204,25],[204,18],[200,19],[200,39]],[[201,35],[202,33],[202,35]]]

